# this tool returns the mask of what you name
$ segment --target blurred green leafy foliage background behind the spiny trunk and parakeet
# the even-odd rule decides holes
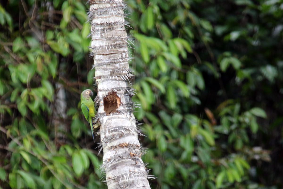
[[[89,6],[0,3],[0,188],[107,188],[79,102]],[[283,1],[127,4],[151,187],[282,188]]]

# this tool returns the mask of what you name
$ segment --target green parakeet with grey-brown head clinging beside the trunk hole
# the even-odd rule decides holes
[[[93,92],[90,89],[86,89],[82,92],[81,108],[85,119],[89,122],[89,125],[91,127],[91,133],[94,141],[93,129],[95,128],[93,128],[92,118],[95,117],[95,108],[90,95],[93,95]]]

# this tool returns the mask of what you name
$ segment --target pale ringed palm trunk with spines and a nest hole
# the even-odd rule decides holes
[[[133,115],[122,0],[90,0],[91,51],[99,104],[97,119],[106,182],[112,188],[150,188]]]

